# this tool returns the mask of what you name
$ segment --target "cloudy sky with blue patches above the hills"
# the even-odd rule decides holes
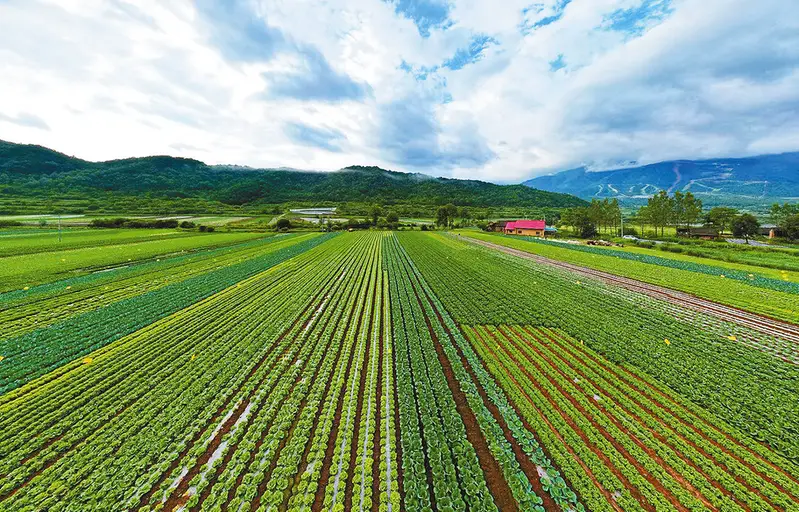
[[[0,0],[0,139],[495,182],[799,150],[799,2]]]

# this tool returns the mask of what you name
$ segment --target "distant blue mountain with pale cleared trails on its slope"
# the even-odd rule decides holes
[[[581,167],[533,178],[524,185],[584,199],[635,202],[658,190],[690,190],[708,205],[771,204],[799,198],[799,153],[675,160],[601,172]]]

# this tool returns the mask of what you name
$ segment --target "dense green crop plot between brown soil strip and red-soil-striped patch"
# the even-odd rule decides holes
[[[424,233],[398,235],[456,321],[562,328],[635,366],[779,453],[799,459],[799,368],[553,273],[548,267]]]

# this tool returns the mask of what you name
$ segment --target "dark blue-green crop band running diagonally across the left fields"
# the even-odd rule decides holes
[[[221,268],[209,269],[142,295],[111,303],[104,308],[69,317],[42,329],[0,340],[0,393],[45,375],[67,361],[82,357],[160,318],[210,297],[242,279],[262,272],[331,236],[294,239],[287,245],[269,246],[256,257]]]

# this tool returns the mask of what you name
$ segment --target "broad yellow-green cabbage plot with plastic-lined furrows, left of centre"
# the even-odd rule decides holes
[[[334,238],[1,397],[0,508],[313,502],[375,247]]]

